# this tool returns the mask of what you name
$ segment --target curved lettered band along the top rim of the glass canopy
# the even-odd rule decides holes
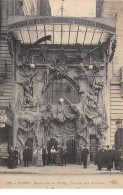
[[[35,26],[35,25],[45,25],[45,24],[70,24],[70,25],[79,25],[79,26],[87,26],[102,29],[108,32],[115,33],[115,27],[109,26],[107,24],[96,22],[93,20],[85,19],[85,18],[69,18],[69,17],[41,17],[35,18],[31,20],[25,20],[21,22],[16,22],[10,24],[9,31],[15,30],[18,28],[23,28],[27,26]]]

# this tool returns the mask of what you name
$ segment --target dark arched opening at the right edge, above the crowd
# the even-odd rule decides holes
[[[123,150],[123,129],[119,129],[115,133],[115,147]]]

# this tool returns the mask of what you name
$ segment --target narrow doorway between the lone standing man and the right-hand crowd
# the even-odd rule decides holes
[[[95,161],[95,155],[98,151],[98,138],[96,135],[90,135],[90,161]]]

